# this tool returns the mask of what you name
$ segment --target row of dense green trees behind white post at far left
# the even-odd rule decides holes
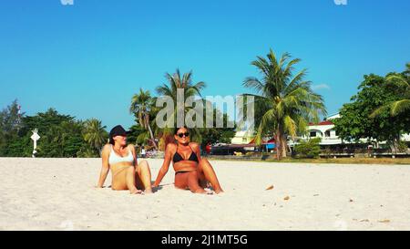
[[[56,109],[37,113],[35,116],[18,115],[14,101],[0,112],[0,156],[31,157],[33,152],[32,130],[38,129],[36,157],[98,157],[99,147],[107,140],[107,131],[97,119],[86,122]]]

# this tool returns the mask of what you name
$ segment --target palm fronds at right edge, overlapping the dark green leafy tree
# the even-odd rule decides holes
[[[396,89],[399,100],[391,101],[375,109],[370,118],[380,115],[384,110],[390,110],[390,115],[394,117],[410,109],[410,63],[407,63],[405,67],[406,70],[402,74],[392,74],[385,78],[386,86]]]

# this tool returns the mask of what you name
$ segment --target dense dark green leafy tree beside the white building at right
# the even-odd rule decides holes
[[[358,142],[360,139],[387,140],[391,143],[400,139],[400,135],[410,131],[408,111],[391,115],[390,109],[379,107],[389,105],[401,98],[403,88],[393,87],[386,77],[377,75],[364,76],[359,92],[350,103],[340,110],[341,118],[333,119],[335,130],[343,140]],[[377,109],[377,115],[374,110]]]

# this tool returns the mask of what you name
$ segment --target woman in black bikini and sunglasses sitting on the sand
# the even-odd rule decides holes
[[[170,161],[172,161],[176,188],[189,189],[195,193],[207,193],[204,188],[210,183],[215,193],[223,192],[210,162],[200,158],[200,145],[196,142],[190,142],[190,132],[185,127],[181,127],[176,131],[174,138],[177,144],[169,143],[167,145],[164,163],[153,187],[159,186],[169,170]]]

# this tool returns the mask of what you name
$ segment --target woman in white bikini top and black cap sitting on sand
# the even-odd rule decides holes
[[[128,190],[131,194],[151,193],[151,172],[149,164],[143,160],[138,163],[132,144],[127,145],[127,131],[120,125],[109,132],[109,143],[102,150],[102,168],[97,188],[102,188],[108,171],[111,170],[111,189]]]

